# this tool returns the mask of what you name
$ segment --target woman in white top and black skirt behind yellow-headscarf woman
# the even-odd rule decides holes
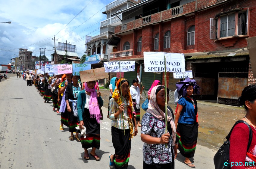
[[[139,85],[139,80],[138,79],[133,79],[133,84],[130,87],[130,93],[131,93],[132,100],[133,100],[133,108],[134,108],[135,113],[136,113],[137,126],[141,127],[141,124],[139,123],[139,121],[140,121],[139,101],[140,101],[140,95],[142,93],[142,90],[144,89],[144,86],[141,87],[141,91],[140,91],[138,85]]]

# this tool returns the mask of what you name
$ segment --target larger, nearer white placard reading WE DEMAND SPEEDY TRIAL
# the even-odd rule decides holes
[[[145,72],[164,72],[164,56],[166,56],[167,72],[185,72],[183,53],[144,52]]]

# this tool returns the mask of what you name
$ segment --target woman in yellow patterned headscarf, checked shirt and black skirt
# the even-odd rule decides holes
[[[122,95],[120,95],[122,93]],[[111,122],[112,142],[115,154],[109,155],[110,168],[128,168],[133,135],[138,134],[136,119],[133,114],[133,101],[129,82],[119,79],[109,101],[109,119]],[[134,132],[133,132],[134,124]]]

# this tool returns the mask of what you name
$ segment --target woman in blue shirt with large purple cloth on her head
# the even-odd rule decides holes
[[[195,168],[189,160],[194,157],[198,136],[197,102],[193,94],[199,94],[200,87],[195,80],[189,78],[176,83],[176,88],[181,96],[176,107],[176,143],[178,142],[180,154],[185,157],[184,163]]]

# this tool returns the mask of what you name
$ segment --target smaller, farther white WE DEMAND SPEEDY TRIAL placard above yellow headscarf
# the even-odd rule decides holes
[[[104,62],[105,72],[119,72],[119,61]],[[121,72],[132,72],[135,70],[135,61],[120,61]]]

